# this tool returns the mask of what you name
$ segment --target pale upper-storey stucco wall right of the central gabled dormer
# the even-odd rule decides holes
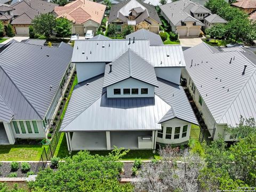
[[[155,67],[156,76],[175,84],[180,84],[182,67]]]

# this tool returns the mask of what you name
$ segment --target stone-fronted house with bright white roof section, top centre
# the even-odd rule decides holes
[[[134,31],[147,29],[158,34],[159,25],[162,25],[155,7],[139,0],[126,0],[111,6],[108,23],[115,24],[117,33],[129,25]]]

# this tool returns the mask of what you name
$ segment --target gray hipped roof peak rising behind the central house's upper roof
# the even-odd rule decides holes
[[[149,40],[149,44],[150,46],[154,46],[154,45],[163,45],[163,41],[161,39],[161,37],[155,33],[152,33],[149,30],[146,29],[140,29],[138,31],[135,31],[129,35],[126,35],[126,39],[133,39],[133,37],[135,39],[148,39]]]

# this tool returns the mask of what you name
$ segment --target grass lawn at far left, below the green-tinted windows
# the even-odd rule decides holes
[[[0,161],[39,161],[42,151],[40,145],[2,145]]]

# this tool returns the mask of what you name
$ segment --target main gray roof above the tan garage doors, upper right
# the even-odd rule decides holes
[[[204,23],[190,15],[190,8],[194,7],[195,5],[195,3],[189,0],[180,0],[161,5],[160,9],[174,26],[181,26],[181,22],[185,21],[196,22],[197,26],[204,26]]]

